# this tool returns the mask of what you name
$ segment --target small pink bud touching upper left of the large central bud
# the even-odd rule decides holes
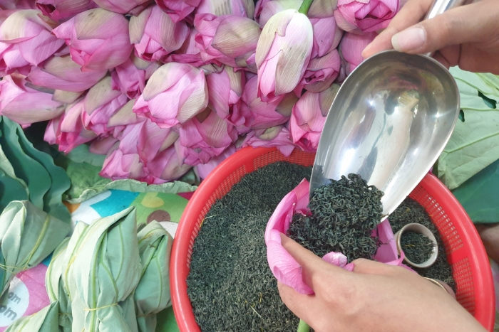
[[[111,72],[113,89],[120,90],[123,95],[134,99],[143,92],[145,80],[148,80],[160,66],[161,64],[157,61],[150,63],[132,55],[130,59]]]

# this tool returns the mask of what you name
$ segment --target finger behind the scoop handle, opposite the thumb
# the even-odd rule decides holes
[[[389,26],[379,34],[374,41],[364,48],[362,56],[369,58],[371,55],[379,53],[383,50],[391,50],[391,38],[396,33],[403,31],[405,28],[418,23],[426,15],[430,8],[432,0],[411,0],[396,14],[391,20]]]

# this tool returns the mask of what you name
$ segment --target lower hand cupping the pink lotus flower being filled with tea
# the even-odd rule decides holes
[[[408,271],[356,259],[354,272],[324,262],[284,235],[282,245],[302,265],[314,295],[279,283],[295,315],[317,332],[484,332],[478,321],[441,287]]]

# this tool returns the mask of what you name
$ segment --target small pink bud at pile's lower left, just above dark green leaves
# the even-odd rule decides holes
[[[85,112],[83,109],[83,100],[68,105],[66,112],[61,117],[53,119],[48,123],[45,140],[53,144],[53,137],[55,136],[55,143],[58,144],[59,151],[67,154],[76,148],[76,146],[95,139],[97,134],[83,127],[81,120],[83,112]]]

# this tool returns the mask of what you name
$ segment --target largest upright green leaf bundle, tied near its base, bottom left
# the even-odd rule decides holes
[[[78,223],[64,261],[63,282],[71,301],[73,331],[135,331],[120,306],[140,279],[134,208],[91,225]]]

